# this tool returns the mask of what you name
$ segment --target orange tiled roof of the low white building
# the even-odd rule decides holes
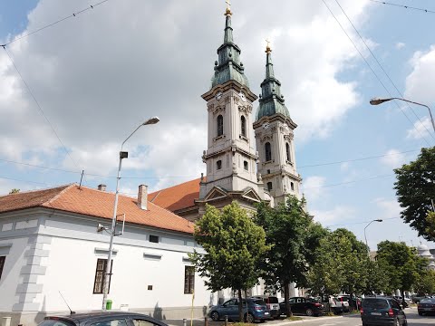
[[[111,219],[114,196],[73,184],[0,197],[0,213],[41,206]],[[126,222],[193,234],[193,224],[188,220],[150,202],[148,210],[140,209],[136,198],[119,196],[117,213],[125,213]]]

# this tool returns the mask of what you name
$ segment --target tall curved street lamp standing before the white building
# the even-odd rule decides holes
[[[108,292],[108,285],[109,285],[109,277],[111,275],[111,251],[113,250],[113,237],[115,235],[115,227],[116,227],[116,211],[118,208],[118,194],[120,192],[120,179],[121,179],[121,164],[122,164],[122,158],[128,158],[129,153],[126,151],[122,151],[122,148],[127,140],[133,136],[133,134],[140,129],[142,126],[150,125],[150,124],[156,124],[160,121],[158,117],[150,118],[149,120],[144,121],[139,125],[138,128],[134,129],[133,132],[131,132],[130,136],[127,137],[122,142],[121,145],[121,151],[120,151],[120,165],[118,167],[118,177],[116,177],[116,192],[115,192],[115,203],[113,204],[113,217],[111,218],[111,242],[109,245],[109,254],[107,257],[107,264],[106,264],[106,273],[104,273],[104,280],[102,282],[102,310],[106,309],[106,301],[107,301],[107,292]]]

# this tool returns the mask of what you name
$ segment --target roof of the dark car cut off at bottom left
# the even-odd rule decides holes
[[[166,326],[167,324],[152,318],[148,315],[136,312],[81,312],[63,316],[47,316],[44,320],[58,319],[60,321],[73,321],[74,323],[84,323],[92,321],[106,320],[108,318],[140,318],[152,321],[158,325]]]

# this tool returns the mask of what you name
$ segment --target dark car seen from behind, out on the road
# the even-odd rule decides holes
[[[401,305],[389,297],[366,297],[361,307],[362,326],[408,325]]]

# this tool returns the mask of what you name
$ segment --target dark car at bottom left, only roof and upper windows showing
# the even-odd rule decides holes
[[[89,312],[45,317],[39,326],[168,326],[150,316],[134,312]]]

